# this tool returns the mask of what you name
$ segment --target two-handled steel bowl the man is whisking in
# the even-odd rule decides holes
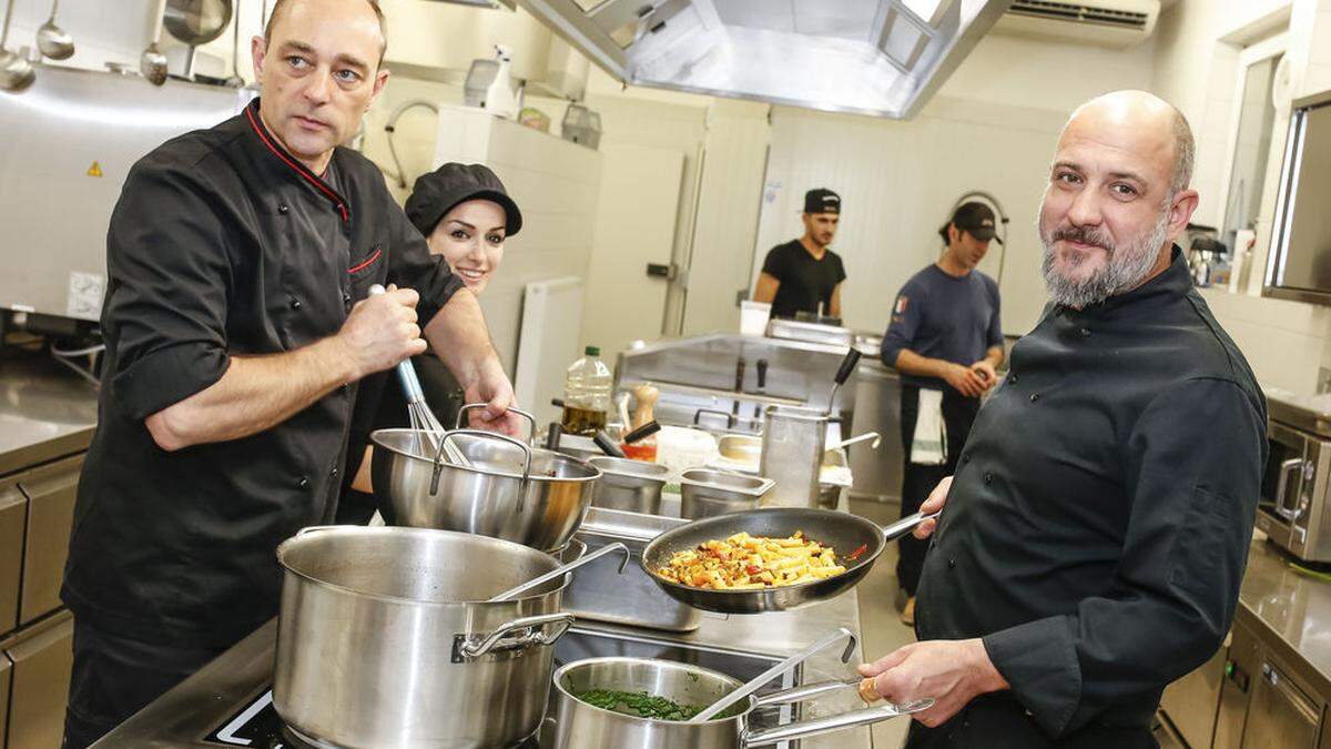
[[[516,541],[542,550],[568,542],[591,506],[600,470],[586,462],[475,429],[449,432],[469,465],[421,450],[421,432],[379,429],[371,474],[390,525],[438,528]],[[386,500],[386,501],[385,501]]]

